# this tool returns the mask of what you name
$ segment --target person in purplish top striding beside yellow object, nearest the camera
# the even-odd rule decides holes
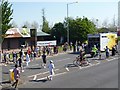
[[[12,87],[15,86],[15,88],[16,88],[18,85],[19,79],[20,79],[20,70],[18,69],[17,64],[15,64],[15,68],[14,68],[13,72],[14,72],[15,82],[12,84]]]

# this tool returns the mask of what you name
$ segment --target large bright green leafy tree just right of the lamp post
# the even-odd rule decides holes
[[[87,34],[96,33],[96,28],[93,22],[86,17],[69,19],[70,41],[84,42],[87,40]]]

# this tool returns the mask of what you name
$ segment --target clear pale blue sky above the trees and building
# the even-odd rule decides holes
[[[13,4],[13,21],[20,27],[24,22],[36,21],[42,24],[42,9],[50,25],[62,22],[67,16],[69,2],[11,2]],[[107,20],[111,22],[118,17],[118,2],[78,2],[69,4],[69,17],[88,17],[98,19],[99,24]]]

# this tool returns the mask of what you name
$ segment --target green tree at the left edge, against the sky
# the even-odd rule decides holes
[[[2,34],[4,35],[6,31],[12,27],[10,24],[13,14],[12,4],[10,4],[6,0],[2,0],[2,3],[0,5],[2,8]]]

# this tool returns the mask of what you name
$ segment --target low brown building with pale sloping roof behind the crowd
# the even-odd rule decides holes
[[[7,30],[6,35],[2,43],[2,49],[20,49],[23,46],[27,47],[33,44],[30,29],[10,28]],[[48,37],[50,37],[49,34],[37,31],[37,41],[45,40]]]

